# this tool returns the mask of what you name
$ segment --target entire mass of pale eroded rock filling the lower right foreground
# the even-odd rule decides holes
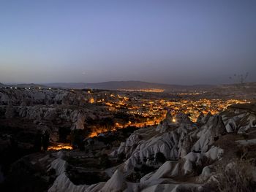
[[[201,117],[198,122],[203,123],[202,119],[206,120],[201,125],[200,123],[195,125],[187,118],[187,115],[180,114],[176,115],[175,123],[167,123],[167,120],[163,120],[167,125],[165,129],[140,128],[111,153],[112,158],[124,153],[127,159],[124,163],[110,168],[111,172],[114,172],[110,180],[94,185],[74,185],[64,172],[56,171],[61,174],[50,189],[60,188],[61,191],[66,191],[67,188],[72,191],[208,191],[209,183],[218,182],[219,173],[216,165],[223,163],[222,158],[227,153],[219,147],[219,144],[225,142],[222,138],[228,136],[227,122],[241,125],[245,118],[244,125],[250,128],[253,126],[253,121],[250,121],[251,118],[248,116],[252,113],[232,114],[233,117],[228,116],[228,118],[227,114],[223,113],[208,115],[207,120]],[[236,130],[239,129],[236,128]],[[244,146],[255,145],[255,139],[249,139],[248,142],[238,140],[235,143]],[[156,155],[159,152],[167,160],[164,163],[156,161]],[[58,159],[54,162],[53,165],[57,162],[59,165],[63,163]],[[155,170],[140,177],[138,183],[128,182],[127,178],[134,172],[134,168],[140,168],[143,164],[154,167]],[[59,169],[58,167],[63,166],[56,166],[56,170]]]

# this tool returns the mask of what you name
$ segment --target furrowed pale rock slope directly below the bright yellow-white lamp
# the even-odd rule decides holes
[[[170,117],[169,117],[170,118]],[[111,155],[124,153],[127,161],[124,162],[124,172],[133,170],[146,158],[146,164],[152,165],[149,159],[155,158],[157,153],[163,153],[167,159],[178,159],[181,155],[184,137],[189,131],[196,131],[195,124],[189,120],[187,115],[176,115],[176,123],[167,125],[156,131],[152,128],[143,128],[135,131],[126,142],[121,143],[117,151]],[[189,147],[190,150],[190,147]]]

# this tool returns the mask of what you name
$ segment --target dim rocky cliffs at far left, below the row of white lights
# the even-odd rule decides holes
[[[89,97],[86,91],[1,88],[0,115],[10,120],[32,120],[38,129],[43,128],[41,131],[49,131],[51,141],[57,142],[60,128],[64,128],[64,132],[85,129],[86,120],[103,116],[99,113],[104,114],[104,110],[94,107],[91,112],[85,107]]]

